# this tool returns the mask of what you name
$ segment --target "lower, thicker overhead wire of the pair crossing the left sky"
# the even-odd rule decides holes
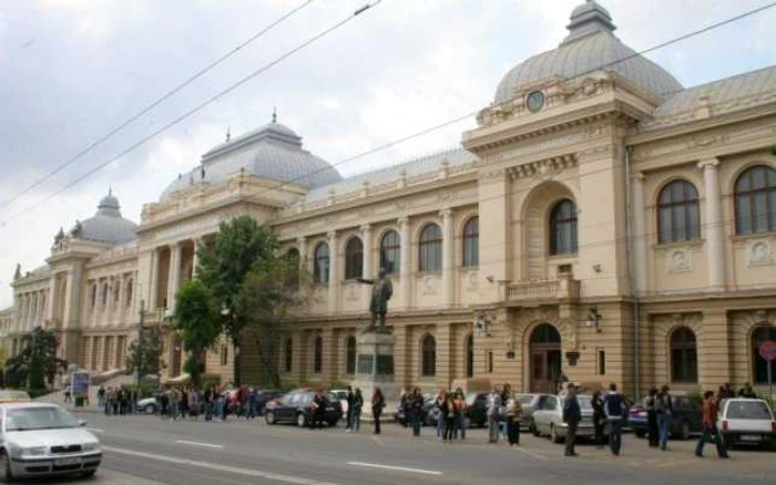
[[[343,19],[343,20],[340,20],[340,21],[334,23],[333,25],[328,27],[327,29],[323,30],[321,32],[319,32],[319,33],[313,35],[312,38],[309,38],[309,39],[306,40],[305,42],[303,42],[303,43],[300,43],[299,45],[297,45],[297,47],[295,47],[294,49],[292,49],[290,51],[287,51],[286,53],[284,53],[284,54],[280,55],[279,58],[275,59],[274,61],[269,62],[268,64],[265,64],[265,65],[262,66],[261,69],[258,69],[258,70],[252,72],[251,74],[248,74],[247,76],[245,76],[245,78],[243,78],[242,80],[237,81],[236,83],[232,84],[231,86],[226,87],[225,90],[223,90],[223,91],[218,92],[217,94],[215,94],[215,95],[208,97],[206,101],[204,101],[204,102],[197,104],[196,106],[194,106],[193,109],[188,110],[188,111],[185,112],[184,114],[180,115],[178,117],[176,117],[176,118],[173,120],[172,122],[165,124],[164,126],[162,126],[162,127],[160,127],[159,130],[154,131],[154,132],[151,133],[150,135],[146,135],[145,137],[141,138],[139,142],[135,142],[135,143],[132,144],[129,148],[122,151],[122,152],[119,153],[118,155],[115,155],[115,156],[109,158],[108,161],[101,163],[100,165],[98,165],[98,166],[95,166],[94,168],[90,169],[90,171],[86,172],[85,174],[83,174],[83,175],[81,175],[80,177],[75,178],[74,180],[70,182],[70,183],[67,184],[64,187],[60,188],[59,190],[54,192],[53,194],[50,194],[50,195],[48,195],[48,196],[41,198],[41,199],[38,200],[37,203],[32,204],[31,206],[27,207],[25,209],[22,209],[22,210],[18,211],[18,213],[14,214],[13,216],[11,216],[11,217],[9,217],[8,219],[6,219],[2,224],[0,224],[0,227],[6,227],[9,223],[11,223],[11,221],[16,220],[17,218],[21,217],[22,215],[24,215],[24,213],[30,211],[30,210],[32,210],[32,209],[34,209],[34,208],[41,206],[43,203],[45,203],[45,202],[50,200],[51,198],[58,196],[59,194],[63,193],[63,192],[67,190],[68,188],[70,188],[70,187],[72,187],[72,186],[74,186],[74,185],[81,183],[82,180],[89,178],[89,177],[92,176],[93,174],[100,172],[102,168],[104,168],[104,167],[111,165],[112,163],[114,163],[115,161],[118,161],[119,158],[121,158],[122,156],[129,154],[130,152],[134,151],[134,149],[137,148],[139,146],[143,145],[145,142],[147,142],[147,141],[150,141],[150,140],[152,140],[152,138],[155,138],[155,137],[159,136],[161,133],[163,133],[163,132],[170,130],[171,127],[177,125],[178,123],[181,123],[182,121],[186,120],[187,117],[190,117],[190,116],[193,115],[194,113],[197,113],[198,111],[203,110],[203,109],[206,107],[207,105],[210,105],[210,104],[212,104],[213,102],[217,101],[218,99],[225,96],[226,94],[231,93],[232,91],[236,90],[237,87],[242,86],[243,84],[247,83],[248,81],[253,80],[254,78],[258,76],[259,74],[262,74],[262,73],[268,71],[269,69],[272,69],[273,66],[277,65],[277,64],[280,63],[282,61],[286,60],[287,58],[289,58],[289,56],[292,56],[292,55],[294,55],[295,53],[299,52],[300,50],[305,49],[306,47],[308,47],[308,45],[310,45],[312,43],[316,42],[317,40],[321,39],[323,37],[325,37],[325,35],[327,35],[327,34],[334,32],[335,30],[339,29],[340,27],[343,27],[343,25],[345,25],[346,23],[348,23],[348,22],[350,22],[351,20],[354,20],[357,16],[364,13],[366,10],[371,9],[372,7],[378,6],[378,4],[381,3],[381,2],[382,2],[382,0],[376,0],[376,1],[374,1],[372,3],[368,3],[367,6],[360,8],[359,10],[357,10],[356,12],[349,14],[349,16],[346,17],[345,19]]]

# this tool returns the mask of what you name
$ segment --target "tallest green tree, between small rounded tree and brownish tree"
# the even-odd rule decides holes
[[[222,223],[215,245],[200,246],[197,276],[221,308],[221,328],[235,348],[234,383],[241,384],[239,345],[248,316],[242,302],[246,275],[276,258],[279,245],[272,228],[249,216]]]

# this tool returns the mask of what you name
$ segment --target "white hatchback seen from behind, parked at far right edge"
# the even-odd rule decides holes
[[[776,421],[762,399],[728,399],[719,406],[717,426],[726,446],[767,444],[776,450]]]

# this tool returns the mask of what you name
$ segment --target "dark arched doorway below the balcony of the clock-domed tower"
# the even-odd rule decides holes
[[[549,323],[533,329],[529,355],[531,392],[554,394],[561,376],[561,334],[558,329]]]

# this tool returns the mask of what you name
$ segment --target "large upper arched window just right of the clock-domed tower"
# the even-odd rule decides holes
[[[698,192],[687,180],[674,180],[657,198],[657,231],[661,244],[701,238]]]

